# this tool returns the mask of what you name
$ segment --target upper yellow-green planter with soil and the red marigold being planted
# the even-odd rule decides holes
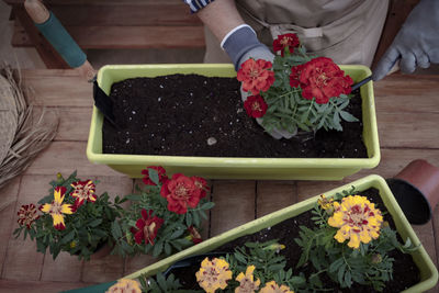
[[[288,42],[285,42],[285,40]],[[98,74],[98,83],[100,88],[115,99],[114,101],[121,101],[121,106],[130,104],[128,100],[134,99],[133,97],[139,97],[138,92],[150,89],[149,86],[142,86],[140,79],[155,79],[160,78],[160,82],[165,81],[169,76],[172,77],[171,84],[172,89],[165,88],[161,83],[157,84],[157,89],[150,90],[145,94],[145,99],[139,101],[136,100],[135,104],[131,104],[123,110],[123,113],[127,113],[127,116],[123,120],[126,125],[133,127],[138,126],[136,131],[114,129],[104,121],[102,114],[94,108],[90,135],[87,147],[87,156],[90,161],[98,164],[105,164],[111,168],[126,173],[130,177],[140,177],[140,170],[144,166],[164,166],[170,173],[185,173],[188,176],[200,176],[205,178],[234,178],[234,179],[296,179],[296,180],[340,180],[346,176],[352,174],[362,168],[374,168],[380,161],[380,146],[378,142],[378,127],[373,101],[373,88],[372,82],[368,82],[362,86],[359,91],[359,95],[354,97],[356,103],[352,103],[351,99],[351,84],[358,82],[369,76],[371,71],[364,66],[356,65],[344,65],[337,66],[333,60],[325,57],[317,57],[306,53],[305,48],[297,42],[293,42],[295,36],[283,35],[274,41],[274,50],[280,52],[280,55],[274,57],[274,61],[266,60],[254,60],[249,59],[243,64],[243,67],[238,72],[235,71],[232,65],[212,65],[212,64],[195,64],[195,65],[137,65],[137,66],[105,66],[100,69]],[[241,154],[240,156],[227,155],[227,153],[221,154],[221,157],[211,155],[194,156],[191,154],[192,149],[198,145],[204,147],[214,148],[223,142],[228,142],[233,137],[234,132],[228,129],[225,131],[225,125],[218,125],[217,129],[212,132],[203,132],[195,134],[199,125],[192,125],[191,128],[187,124],[193,120],[193,113],[178,112],[182,108],[180,100],[176,101],[175,105],[177,112],[168,114],[167,112],[160,112],[157,115],[155,111],[151,113],[139,115],[139,103],[147,99],[154,101],[155,106],[148,109],[165,109],[165,105],[170,104],[167,99],[180,97],[179,89],[181,88],[181,97],[191,97],[192,89],[188,89],[190,84],[185,84],[181,81],[181,76],[176,75],[196,75],[207,78],[235,78],[236,90],[233,90],[233,94],[236,98],[235,104],[239,104],[239,109],[235,109],[235,104],[229,109],[230,113],[239,114],[239,119],[227,121],[227,127],[244,123],[243,121],[249,121],[246,126],[254,127],[252,120],[249,119],[245,112],[250,116],[256,117],[257,121],[263,126],[263,128],[256,125],[256,129],[249,127],[235,132],[240,134],[245,133],[259,133],[264,140],[273,139],[264,132],[286,133],[285,136],[294,135],[297,131],[311,135],[306,135],[306,138],[315,139],[316,136],[322,133],[327,133],[330,136],[339,137],[340,133],[346,132],[346,122],[348,125],[358,125],[354,131],[358,134],[358,142],[361,146],[362,154],[350,155],[336,155],[327,156],[327,151],[317,150],[311,157],[302,156],[311,148],[306,139],[299,139],[303,136],[293,137],[293,139],[280,139],[279,148],[283,148],[282,144],[290,144],[291,142],[299,140],[302,148],[302,153],[297,153],[294,156],[289,156],[292,149],[299,149],[295,147],[286,147],[285,154],[278,157],[270,157],[267,155],[249,156],[248,154]],[[161,79],[162,78],[162,79]],[[138,87],[134,87],[135,80],[138,80]],[[168,81],[170,78],[168,79]],[[127,82],[127,83],[124,83]],[[180,82],[180,83],[179,83]],[[241,95],[239,94],[239,83],[241,83],[243,91],[249,94],[245,103],[241,102]],[[179,84],[178,88],[173,86]],[[207,84],[207,83],[206,83]],[[196,104],[200,101],[219,101],[224,94],[215,91],[214,86],[200,84],[199,88],[206,88],[205,95],[213,97],[217,94],[212,101],[204,95],[193,98],[192,100],[185,100],[185,104]],[[177,87],[177,86],[176,86]],[[230,86],[232,87],[232,86]],[[113,90],[112,90],[113,88]],[[125,93],[126,95],[120,95]],[[158,92],[158,93],[157,93]],[[151,94],[157,93],[154,98]],[[167,94],[165,97],[165,94]],[[357,93],[356,93],[357,94]],[[205,99],[203,99],[205,98]],[[188,98],[191,99],[191,98]],[[125,102],[123,102],[125,101]],[[175,100],[172,100],[173,102]],[[184,106],[185,106],[184,104]],[[351,114],[350,108],[353,104],[358,108],[356,114]],[[121,111],[119,108],[115,111]],[[204,106],[209,111],[212,109],[222,109],[222,104],[206,104]],[[203,108],[203,109],[204,109]],[[349,110],[348,110],[349,109]],[[145,110],[146,111],[146,110]],[[181,110],[182,111],[182,110]],[[216,122],[214,119],[221,116],[228,116],[230,113],[212,114],[210,112],[204,114],[205,116],[212,116],[213,122],[210,125],[214,125]],[[357,110],[356,110],[357,111]],[[201,111],[200,111],[201,112]],[[203,112],[204,113],[204,112]],[[243,113],[243,116],[240,116]],[[353,113],[353,112],[352,112]],[[173,119],[178,115],[178,119]],[[232,115],[232,114],[230,114]],[[158,125],[155,122],[148,122],[150,116],[160,116],[165,120]],[[172,119],[171,119],[172,117]],[[183,119],[184,117],[184,119]],[[238,116],[236,116],[238,117]],[[133,121],[138,119],[136,123]],[[169,120],[169,121],[167,121]],[[360,121],[357,121],[360,120]],[[176,125],[172,121],[179,121]],[[164,125],[172,124],[173,128],[169,128],[167,134],[160,134],[158,137],[156,131],[145,131],[148,127],[156,125],[155,129],[164,128]],[[243,124],[244,125],[244,124]],[[342,126],[345,125],[345,126]],[[137,127],[136,126],[136,127]],[[345,127],[345,132],[341,132]],[[357,126],[356,126],[357,127]],[[149,129],[149,128],[148,128]],[[328,131],[328,132],[325,132]],[[217,131],[217,132],[216,132]],[[318,132],[317,132],[318,131]],[[334,131],[334,132],[330,132]],[[105,135],[103,133],[105,132]],[[147,142],[138,143],[138,137],[134,134],[143,133],[142,139],[145,137]],[[222,139],[212,133],[221,134]],[[317,132],[317,134],[316,134]],[[335,134],[334,134],[335,133]],[[346,132],[347,133],[347,132]],[[111,135],[114,134],[114,135]],[[180,135],[188,134],[191,137],[185,137],[184,144],[180,144]],[[212,134],[212,135],[211,135]],[[316,136],[314,136],[316,134]],[[117,149],[113,151],[114,145],[109,146],[109,137],[112,136],[114,139],[121,139],[117,142],[117,146],[123,148],[123,151]],[[204,139],[205,136],[205,139]],[[333,144],[333,150],[338,151],[339,145],[347,145],[354,140],[353,134],[344,137],[341,140],[337,140]],[[122,139],[123,137],[123,139]],[[167,142],[171,137],[176,140]],[[198,137],[203,137],[202,142],[193,142]],[[277,149],[274,147],[267,148],[255,148],[254,139],[238,139],[234,140],[236,149],[240,149],[241,143],[247,142],[247,147],[250,145],[252,149]],[[261,138],[262,139],[262,138]],[[338,138],[337,138],[338,139]],[[154,147],[147,148],[147,144],[154,144]],[[165,142],[165,143],[162,143]],[[251,142],[249,144],[248,142]],[[113,143],[113,142],[112,142]],[[318,143],[320,146],[326,145],[327,139],[323,139]],[[244,144],[244,143],[243,143]],[[124,148],[124,147],[128,148]],[[136,150],[132,151],[136,146]],[[167,149],[171,146],[187,146],[185,153],[178,154],[166,154],[161,155],[162,149]],[[191,147],[193,146],[193,148]],[[259,145],[258,145],[259,146]],[[358,149],[351,148],[354,153]]]

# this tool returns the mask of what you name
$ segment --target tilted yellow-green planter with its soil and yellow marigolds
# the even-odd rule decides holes
[[[269,240],[273,235],[280,237]],[[219,251],[224,255],[209,256]],[[202,257],[198,263],[187,270],[179,268],[179,260],[196,255]],[[410,264],[402,264],[402,259]],[[164,271],[167,275],[161,274]],[[185,284],[176,283],[189,272],[192,281],[184,278]],[[216,279],[210,278],[213,274]],[[188,282],[192,282],[195,286],[191,290],[206,292],[258,292],[256,288],[262,290],[259,292],[423,292],[435,286],[438,271],[385,180],[369,176],[234,228],[125,278],[138,279],[149,290],[151,284],[164,288],[170,283],[187,290]],[[244,283],[252,290],[244,291]],[[391,289],[385,289],[389,285]]]

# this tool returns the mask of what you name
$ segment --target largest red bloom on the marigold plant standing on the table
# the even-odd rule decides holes
[[[176,173],[161,187],[160,194],[168,200],[169,211],[185,214],[188,205],[193,209],[199,204],[201,190],[191,178]]]

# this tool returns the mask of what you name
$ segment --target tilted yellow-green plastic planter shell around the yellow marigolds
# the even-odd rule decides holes
[[[387,209],[389,213],[392,215],[392,218],[396,224],[396,229],[399,233],[399,235],[402,236],[402,238],[406,239],[407,237],[409,237],[414,245],[416,245],[416,246],[419,245],[419,249],[412,252],[412,257],[420,271],[420,282],[410,286],[407,290],[404,290],[403,292],[404,293],[408,293],[408,292],[419,293],[419,292],[424,292],[424,291],[427,291],[427,290],[434,288],[436,285],[436,283],[438,282],[438,270],[435,267],[434,262],[431,261],[430,257],[428,256],[427,251],[420,244],[418,237],[416,236],[410,224],[408,223],[403,211],[401,210],[395,198],[393,196],[391,190],[389,189],[385,180],[380,176],[375,176],[375,174],[368,176],[365,178],[362,178],[360,180],[357,180],[357,181],[346,184],[344,187],[327,191],[327,192],[325,192],[325,195],[327,198],[330,198],[335,193],[341,192],[342,190],[350,190],[352,185],[354,185],[357,188],[357,190],[360,192],[364,191],[369,188],[378,189],[380,191],[381,199],[383,200],[384,205]],[[271,227],[284,219],[294,217],[296,215],[302,214],[303,212],[312,210],[315,206],[315,203],[318,198],[319,198],[319,195],[316,195],[316,196],[305,200],[303,202],[300,202],[300,203],[296,203],[289,207],[282,209],[278,212],[274,212],[274,213],[268,214],[263,217],[260,217],[258,219],[251,221],[245,225],[241,225],[239,227],[236,227],[234,229],[225,232],[218,236],[215,236],[211,239],[207,239],[199,245],[192,246],[192,247],[190,247],[183,251],[180,251],[171,257],[162,259],[149,267],[146,267],[145,269],[136,271],[124,278],[135,279],[143,273],[145,273],[147,277],[155,275],[157,272],[165,271],[167,268],[172,266],[175,262],[177,262],[183,258],[194,256],[194,255],[206,253],[206,252],[212,251],[212,250],[218,248],[219,246],[222,246],[228,241],[232,241],[236,238],[257,233],[267,227]],[[396,279],[397,275],[393,275],[393,278]]]

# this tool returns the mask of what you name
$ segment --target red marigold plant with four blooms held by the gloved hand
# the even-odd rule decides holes
[[[358,121],[349,105],[352,78],[330,58],[306,54],[295,34],[280,35],[273,42],[274,61],[248,59],[237,79],[248,92],[244,106],[268,131],[320,128],[342,131],[341,120]]]

